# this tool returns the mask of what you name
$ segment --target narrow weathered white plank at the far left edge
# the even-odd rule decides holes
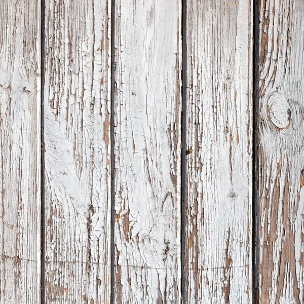
[[[0,303],[40,302],[40,1],[0,9]]]

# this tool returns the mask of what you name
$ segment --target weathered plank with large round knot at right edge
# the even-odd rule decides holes
[[[304,303],[304,8],[260,3],[259,303]]]

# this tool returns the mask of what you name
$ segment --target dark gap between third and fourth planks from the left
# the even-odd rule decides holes
[[[186,209],[186,18],[187,0],[181,2],[181,230],[180,230],[180,263],[181,263],[181,302],[185,303],[185,209]]]

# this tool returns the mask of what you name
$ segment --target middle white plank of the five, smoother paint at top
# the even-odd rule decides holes
[[[115,303],[178,303],[181,2],[115,13]]]

